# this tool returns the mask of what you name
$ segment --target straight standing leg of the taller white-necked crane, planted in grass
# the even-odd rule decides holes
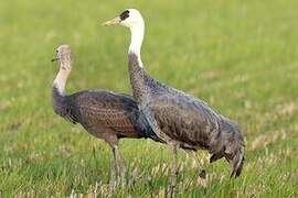
[[[169,187],[168,197],[174,197],[175,186],[177,186],[177,176],[178,176],[178,144],[171,145],[173,154],[173,167],[171,169],[171,182]]]

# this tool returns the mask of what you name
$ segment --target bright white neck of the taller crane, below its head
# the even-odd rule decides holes
[[[134,53],[138,56],[139,66],[142,67],[140,51],[143,40],[145,24],[143,22],[136,23],[130,26],[131,41],[128,53]]]

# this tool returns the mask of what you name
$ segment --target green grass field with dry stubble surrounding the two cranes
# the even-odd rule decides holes
[[[71,45],[68,92],[130,92],[129,32],[100,26],[130,7],[147,23],[147,70],[236,120],[245,134],[237,179],[230,179],[225,161],[209,164],[206,152],[207,178],[199,179],[193,158],[181,151],[178,196],[298,197],[295,0],[0,1],[0,197],[108,195],[110,150],[54,114],[58,67],[50,59],[60,44]],[[169,147],[124,140],[120,150],[135,184],[114,196],[162,197]]]

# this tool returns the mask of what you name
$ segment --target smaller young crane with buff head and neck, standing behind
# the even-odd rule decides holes
[[[56,58],[58,74],[53,82],[52,100],[55,113],[72,123],[81,123],[92,135],[105,140],[113,150],[110,164],[110,187],[116,185],[115,173],[119,170],[120,183],[125,185],[126,165],[118,148],[123,138],[149,138],[162,142],[140,114],[132,97],[106,90],[83,90],[65,94],[65,84],[72,70],[71,48],[58,46]]]

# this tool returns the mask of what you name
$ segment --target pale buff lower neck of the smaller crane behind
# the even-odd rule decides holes
[[[64,68],[63,68],[64,67]],[[54,79],[53,86],[57,88],[61,95],[65,95],[65,84],[71,74],[70,66],[61,66],[56,78]]]

